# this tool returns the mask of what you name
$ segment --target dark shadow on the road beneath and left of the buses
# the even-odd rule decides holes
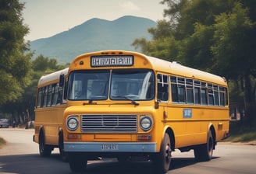
[[[219,158],[219,157],[215,157]],[[213,160],[215,159],[213,158]],[[170,171],[197,163],[194,158],[172,158]],[[53,154],[43,158],[38,154],[32,155],[0,155],[0,173],[17,174],[71,174],[69,163],[62,162],[60,155]],[[151,162],[120,163],[116,158],[106,158],[98,161],[88,161],[85,174],[158,174]]]

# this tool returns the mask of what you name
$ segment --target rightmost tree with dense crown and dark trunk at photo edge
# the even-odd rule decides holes
[[[215,21],[212,45],[215,64],[212,68],[240,82],[246,118],[251,123],[256,113],[256,21],[251,19],[249,9],[243,8],[240,2],[234,5],[231,12],[217,16]]]

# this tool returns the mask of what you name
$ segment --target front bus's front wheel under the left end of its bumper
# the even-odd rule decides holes
[[[84,172],[87,167],[87,158],[79,154],[69,154],[69,169],[72,172]]]

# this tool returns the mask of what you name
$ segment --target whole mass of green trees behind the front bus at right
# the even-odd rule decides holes
[[[230,101],[243,103],[248,123],[256,113],[256,3],[254,0],[162,0],[164,16],[137,39],[145,54],[180,61],[227,78]]]

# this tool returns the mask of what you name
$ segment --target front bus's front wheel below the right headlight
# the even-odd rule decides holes
[[[172,157],[172,148],[169,134],[165,133],[160,147],[160,152],[152,159],[155,169],[158,172],[165,173],[169,170]]]

